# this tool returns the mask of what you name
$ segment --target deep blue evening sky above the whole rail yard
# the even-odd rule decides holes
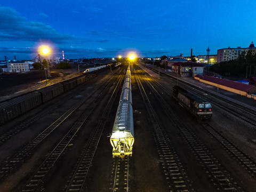
[[[0,60],[217,54],[256,43],[255,0],[0,0]]]

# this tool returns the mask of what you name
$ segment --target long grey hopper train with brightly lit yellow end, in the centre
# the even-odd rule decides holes
[[[132,156],[134,143],[130,65],[127,68],[113,129],[110,136],[113,157]]]

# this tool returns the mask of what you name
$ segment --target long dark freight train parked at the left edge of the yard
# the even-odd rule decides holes
[[[97,76],[97,74],[88,76],[82,75],[1,102],[0,125],[11,121],[15,117],[18,117],[55,97],[58,97],[60,94],[73,89],[74,87],[88,81],[91,78],[94,78],[95,76]]]

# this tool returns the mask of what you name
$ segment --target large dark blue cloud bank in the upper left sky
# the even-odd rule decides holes
[[[40,13],[48,17],[45,13]],[[106,39],[80,38],[74,35],[62,34],[53,27],[42,22],[29,22],[11,7],[0,6],[0,41],[51,41],[57,44],[68,42],[108,42]],[[95,32],[96,33],[96,32]]]

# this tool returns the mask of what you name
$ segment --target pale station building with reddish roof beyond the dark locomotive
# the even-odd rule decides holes
[[[177,62],[172,65],[172,71],[180,74],[181,77],[193,77],[203,75],[204,66],[195,62]]]

